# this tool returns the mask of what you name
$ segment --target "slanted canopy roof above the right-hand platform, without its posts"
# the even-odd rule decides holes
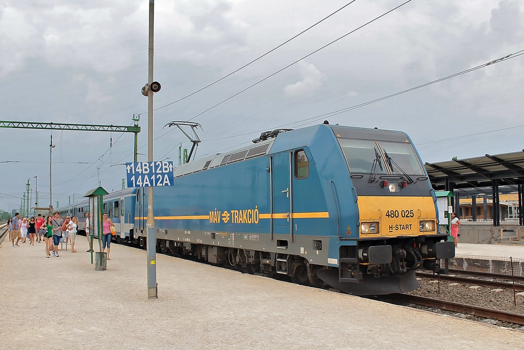
[[[425,163],[435,190],[455,190],[463,196],[492,192],[494,184],[500,193],[515,193],[524,184],[524,150],[497,155]]]

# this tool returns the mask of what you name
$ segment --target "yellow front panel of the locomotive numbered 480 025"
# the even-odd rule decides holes
[[[360,237],[436,235],[432,197],[358,196]]]

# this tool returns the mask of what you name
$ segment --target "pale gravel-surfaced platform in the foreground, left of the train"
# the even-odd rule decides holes
[[[147,299],[146,252],[113,245],[94,271],[43,243],[0,246],[5,349],[515,349],[524,332],[157,256]]]

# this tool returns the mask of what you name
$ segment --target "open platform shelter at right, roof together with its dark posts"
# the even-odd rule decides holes
[[[522,193],[524,189],[524,150],[520,152],[484,156],[451,161],[425,163],[431,185],[435,190],[454,193],[455,213],[460,213],[460,198],[472,198],[471,219],[477,221],[479,211],[488,213],[488,198],[491,198],[490,218],[493,226],[500,226],[500,194],[517,193],[517,219],[524,226]],[[477,209],[477,197],[484,198],[483,210]]]

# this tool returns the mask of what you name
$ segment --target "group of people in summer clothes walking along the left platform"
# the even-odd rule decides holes
[[[58,211],[55,211],[53,216],[48,216],[47,218],[42,217],[41,214],[38,214],[38,217],[31,217],[29,221],[27,218],[19,218],[19,213],[16,213],[13,218],[9,218],[7,221],[8,231],[9,231],[9,240],[13,243],[13,247],[20,247],[18,244],[20,240],[22,243],[26,242],[26,239],[29,239],[29,245],[34,246],[35,241],[38,243],[44,242],[46,247],[46,257],[50,258],[51,256],[60,257],[58,252],[58,245],[60,243],[71,243],[71,252],[77,253],[78,251],[74,249],[74,243],[77,237],[78,232],[78,220],[77,217],[71,216],[62,219]],[[109,253],[111,251],[111,238],[114,232],[115,225],[113,221],[107,217],[107,214],[104,213],[103,217],[103,230],[104,235],[102,237],[102,251],[105,252],[107,247],[107,260],[111,260]],[[91,228],[89,213],[85,215],[85,231],[86,237],[89,242],[90,252],[92,247],[91,237],[89,236],[89,230]],[[15,242],[16,241],[16,242]]]

